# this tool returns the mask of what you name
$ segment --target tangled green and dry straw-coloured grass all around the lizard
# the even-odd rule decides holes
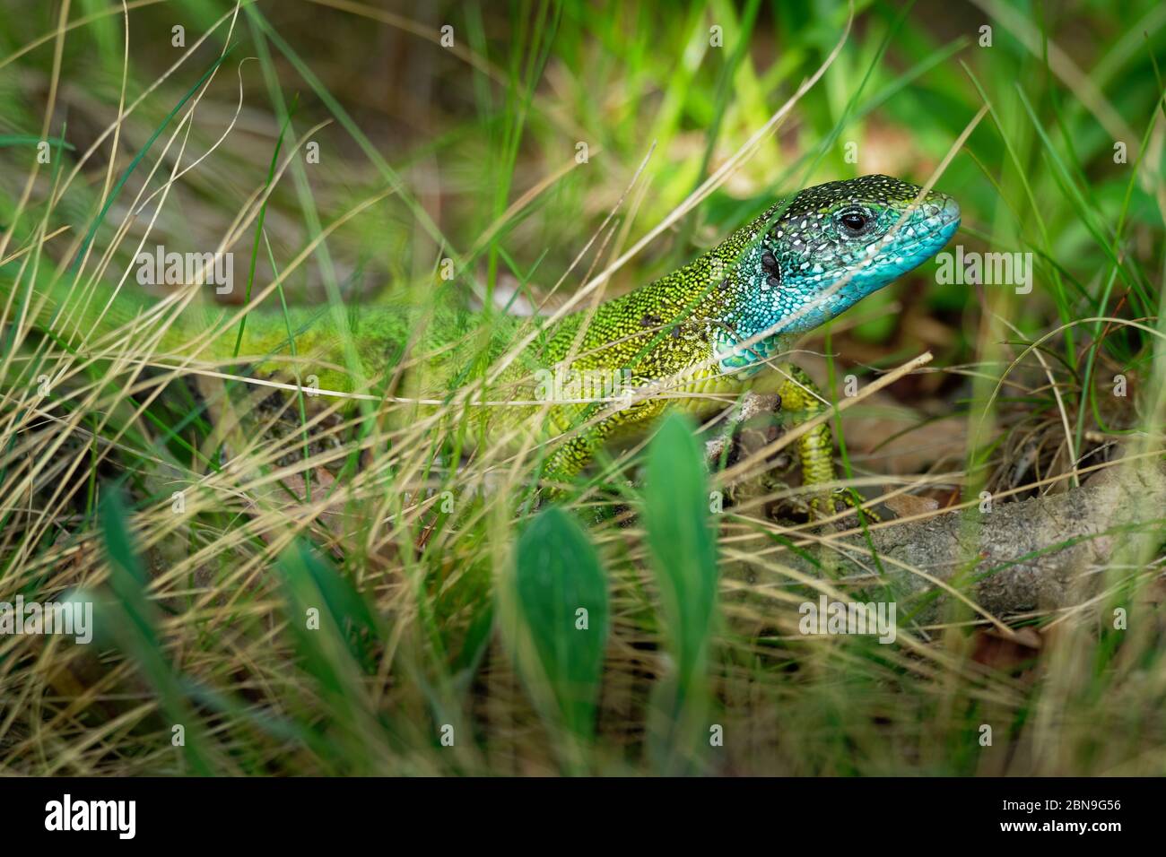
[[[847,375],[866,387],[930,351],[831,417],[847,484],[916,498],[892,504],[900,518],[982,491],[1007,514],[1084,468],[1163,451],[1159,5],[861,2],[833,59],[841,2],[128,8],[0,23],[0,274],[17,286],[0,602],[90,598],[101,630],[89,646],[0,637],[0,770],[1166,768],[1161,519],[1123,535],[1074,606],[1005,624],[949,607],[891,646],[806,637],[803,602],[885,590],[831,575],[840,533],[806,522],[780,454],[743,455],[729,486],[697,454],[719,427],[694,440],[669,421],[535,508],[548,450],[475,449],[464,400],[437,430],[408,391],[273,395],[239,366],[164,353],[164,318],[47,336],[29,293],[143,288],[135,252],[161,244],[233,251],[225,300],[266,290],[266,309],[342,323],[437,289],[550,312],[585,283],[610,296],[667,273],[799,187],[923,182],[946,162],[957,243],[1033,253],[1032,291],[941,285],[925,266],[795,358],[841,402]],[[823,64],[737,169],[613,265]],[[491,368],[468,367],[464,387]]]

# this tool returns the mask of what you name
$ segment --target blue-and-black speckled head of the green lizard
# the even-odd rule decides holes
[[[960,227],[951,197],[890,176],[807,188],[754,250],[780,333],[816,328],[935,255]],[[766,303],[761,296],[760,303]]]

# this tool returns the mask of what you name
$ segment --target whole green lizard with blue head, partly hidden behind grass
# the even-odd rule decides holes
[[[602,444],[645,428],[668,407],[704,417],[745,389],[767,386],[777,387],[784,409],[808,419],[823,400],[803,372],[779,363],[781,352],[795,336],[933,257],[958,225],[954,199],[887,176],[802,190],[667,276],[554,323],[534,319],[531,342],[465,400],[472,434],[493,444],[533,430],[549,443],[545,476],[561,483]],[[20,276],[0,278],[0,289],[10,293],[14,280]],[[76,311],[62,305],[62,287],[48,291],[38,289],[33,305],[40,304],[38,324],[58,337],[107,331],[148,305],[125,294],[113,301],[98,295]],[[365,305],[339,318],[305,308],[290,317],[252,311],[237,360],[238,324],[227,323],[236,311],[190,304],[173,319],[161,349],[289,377],[290,326],[298,371],[317,375],[322,389],[350,392],[371,380],[364,392],[375,392],[379,380],[384,392],[385,379],[394,378],[396,395],[449,400],[451,391],[480,378],[471,367],[494,366],[521,342],[532,319],[471,312],[454,289],[445,291],[429,307]],[[395,372],[401,365],[407,371]],[[767,366],[777,372],[761,372]],[[412,416],[441,410],[419,403]],[[798,452],[806,485],[834,479],[827,424],[799,438]],[[833,511],[833,500],[824,503]]]

